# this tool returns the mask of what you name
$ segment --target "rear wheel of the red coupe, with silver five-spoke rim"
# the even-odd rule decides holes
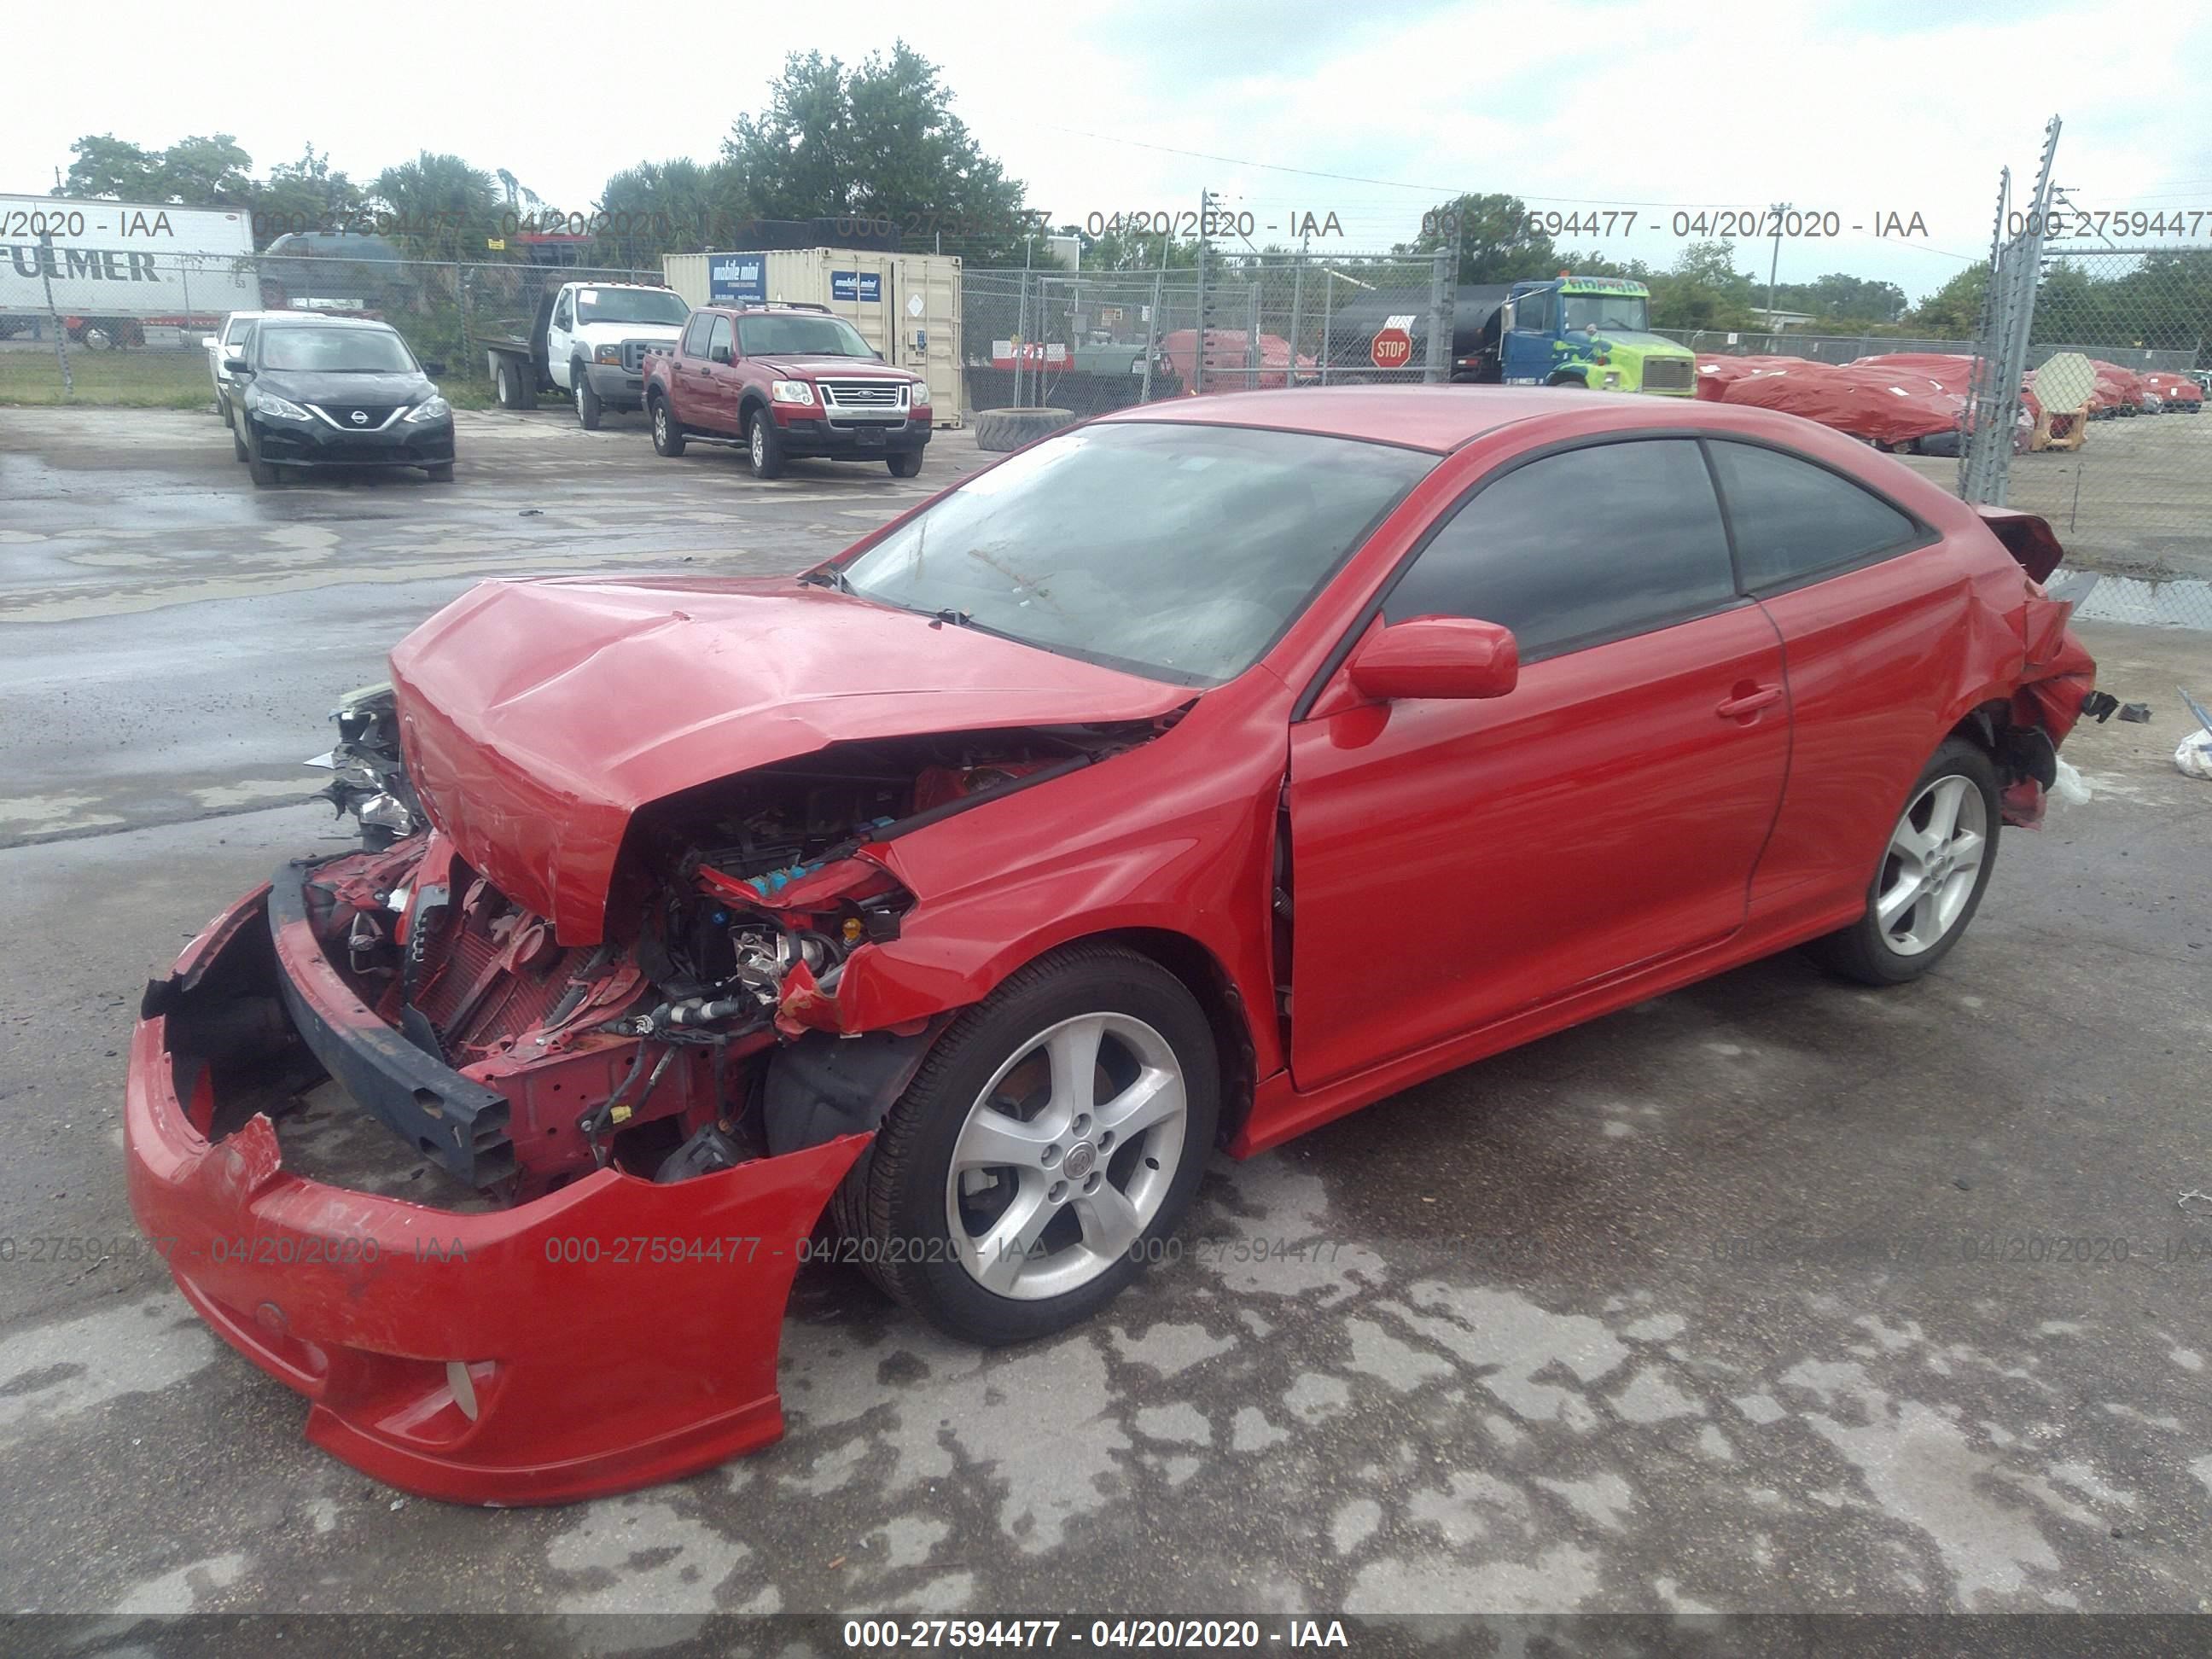
[[[1805,951],[1860,984],[1905,984],[1958,945],[1997,867],[1997,770],[1962,737],[1944,741],[1905,796],[1867,914]]]

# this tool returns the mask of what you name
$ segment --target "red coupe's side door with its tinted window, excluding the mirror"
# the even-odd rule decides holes
[[[1444,1042],[1734,933],[1790,759],[1781,639],[1694,440],[1491,473],[1380,615],[1513,628],[1513,692],[1290,732],[1292,1077]]]

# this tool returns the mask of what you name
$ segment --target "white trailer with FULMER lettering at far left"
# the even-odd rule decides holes
[[[246,208],[0,195],[0,316],[208,327],[261,307]]]

